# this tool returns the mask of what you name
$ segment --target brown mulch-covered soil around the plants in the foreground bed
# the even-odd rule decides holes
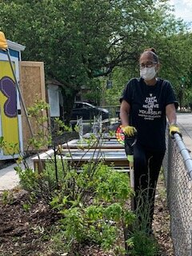
[[[54,250],[49,234],[58,215],[45,202],[38,200],[31,204],[29,194],[19,187],[3,192],[0,199],[0,256],[71,256]],[[162,181],[158,182],[153,229],[162,248],[161,255],[173,256],[170,215]],[[114,256],[93,245],[78,248],[78,255]]]

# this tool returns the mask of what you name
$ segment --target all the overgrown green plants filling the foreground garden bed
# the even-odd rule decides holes
[[[46,109],[43,102],[36,102],[29,111],[30,117],[44,130],[46,118],[39,115],[42,109]],[[58,122],[59,134],[61,129],[65,129],[65,126],[60,126]],[[41,129],[39,135],[43,136]],[[50,138],[49,129],[46,130],[47,136]],[[82,149],[84,154],[93,143],[97,145],[98,139],[94,137],[86,141],[88,148]],[[33,142],[36,150],[45,146],[46,139],[37,141],[30,139],[30,146],[33,146]],[[50,144],[51,140],[47,142]],[[3,138],[0,146],[7,146]],[[54,154],[46,161],[42,171],[32,170],[26,162],[22,169],[19,166],[22,161],[25,162],[23,156],[18,159],[15,170],[22,188],[30,193],[30,202],[23,203],[23,210],[29,211],[31,204],[39,199],[54,210],[58,222],[54,223],[54,232],[49,231],[47,235],[48,239],[54,239],[55,250],[75,254],[79,246],[96,244],[103,250],[110,250],[113,255],[158,255],[157,242],[142,225],[137,224],[137,212],[130,210],[130,198],[134,191],[130,188],[130,179],[126,173],[106,166],[101,158],[90,159],[82,166],[74,165],[73,161],[64,161],[60,146],[54,146]],[[11,202],[8,192],[2,198],[4,204]],[[142,222],[146,221],[143,215]]]

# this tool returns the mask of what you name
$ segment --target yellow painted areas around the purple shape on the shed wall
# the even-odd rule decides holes
[[[15,67],[14,67],[15,68]],[[0,61],[0,79],[4,76],[10,77],[14,80],[14,76],[10,69],[10,62]],[[1,89],[1,88],[0,88]],[[17,145],[14,149],[8,147],[4,150],[4,154],[18,154],[19,152],[19,134],[18,134],[18,116],[14,118],[7,117],[4,113],[4,105],[7,97],[2,94],[0,90],[0,110],[1,110],[1,121],[2,121],[2,136],[4,137],[7,144]]]

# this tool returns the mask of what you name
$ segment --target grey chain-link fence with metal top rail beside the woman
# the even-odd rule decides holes
[[[163,169],[174,255],[192,256],[192,159],[178,134],[167,135],[166,143]]]

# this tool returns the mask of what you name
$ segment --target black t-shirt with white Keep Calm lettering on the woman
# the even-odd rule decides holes
[[[158,78],[154,86],[147,86],[143,78],[132,78],[122,100],[130,104],[130,125],[138,131],[138,143],[147,150],[165,150],[166,106],[178,105],[170,82]]]

